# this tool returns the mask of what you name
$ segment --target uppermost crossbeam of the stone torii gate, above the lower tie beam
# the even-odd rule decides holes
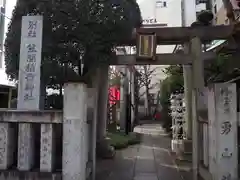
[[[228,39],[234,32],[240,29],[239,24],[218,25],[203,27],[161,27],[161,28],[139,28],[136,33],[150,34],[157,36],[157,45],[183,44],[190,41],[193,37],[199,37],[201,41]],[[121,46],[135,46],[136,34],[133,34],[131,40],[121,43]]]

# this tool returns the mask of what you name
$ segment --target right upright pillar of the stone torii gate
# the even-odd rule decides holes
[[[199,113],[204,111],[204,69],[202,61],[202,43],[199,37],[194,37],[191,42],[191,53],[193,56],[193,79],[192,79],[192,162],[193,162],[193,180],[198,180],[199,162],[202,152],[199,151],[201,129],[199,126]]]

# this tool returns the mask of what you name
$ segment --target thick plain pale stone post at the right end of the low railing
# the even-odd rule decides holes
[[[63,180],[86,179],[87,85],[66,83],[63,107]]]

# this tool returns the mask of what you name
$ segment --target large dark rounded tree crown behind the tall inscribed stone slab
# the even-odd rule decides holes
[[[61,88],[66,77],[88,79],[141,25],[135,0],[19,0],[5,42],[6,73],[12,79],[18,79],[21,18],[28,14],[44,19],[41,80],[52,88]]]

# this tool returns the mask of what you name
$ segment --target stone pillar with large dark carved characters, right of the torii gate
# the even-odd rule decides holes
[[[236,84],[215,84],[209,89],[209,170],[216,180],[238,179]]]

